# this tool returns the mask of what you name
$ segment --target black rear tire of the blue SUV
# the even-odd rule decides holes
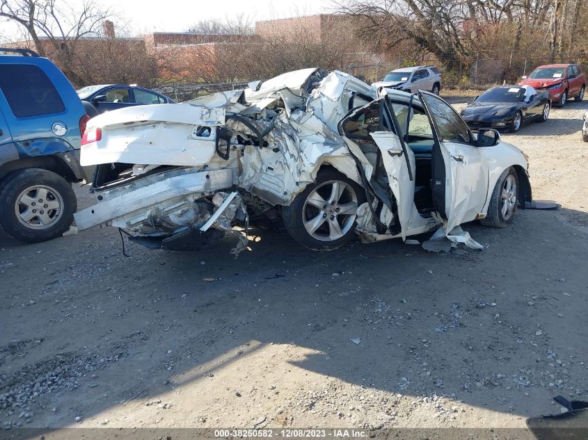
[[[27,188],[35,188],[28,193],[23,194]],[[40,194],[37,191],[42,188],[48,189],[46,197],[41,204],[37,204],[38,200],[34,200],[35,206],[39,206],[38,214],[31,218],[30,222],[24,224],[24,220],[19,220],[16,210],[25,213],[29,208],[24,204],[18,204],[18,200],[27,199]],[[47,206],[58,205],[56,209],[47,209]],[[43,209],[46,211],[42,211]],[[40,168],[27,168],[26,170],[19,170],[9,174],[6,179],[2,181],[2,188],[0,190],[0,225],[4,228],[7,234],[13,236],[19,241],[27,243],[38,243],[40,241],[51,240],[61,236],[63,232],[67,231],[74,220],[74,212],[77,210],[77,200],[72,185],[63,179],[63,177],[54,172],[42,170]],[[34,211],[33,211],[34,212]],[[45,218],[49,218],[47,227],[44,227],[41,222],[39,213],[45,214]],[[37,224],[38,223],[38,224]],[[27,226],[29,225],[29,226]]]

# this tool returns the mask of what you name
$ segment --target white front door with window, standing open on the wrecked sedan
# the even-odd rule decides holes
[[[450,104],[420,90],[420,100],[434,127],[431,190],[434,207],[448,234],[482,212],[488,196],[488,163],[468,126]]]

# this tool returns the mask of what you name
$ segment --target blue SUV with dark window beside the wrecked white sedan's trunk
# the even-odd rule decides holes
[[[60,236],[77,209],[86,105],[56,65],[28,49],[0,47],[0,225],[35,243]]]

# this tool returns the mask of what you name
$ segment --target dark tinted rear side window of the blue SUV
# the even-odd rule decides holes
[[[16,117],[51,115],[65,110],[54,85],[35,65],[2,65],[0,90]]]

